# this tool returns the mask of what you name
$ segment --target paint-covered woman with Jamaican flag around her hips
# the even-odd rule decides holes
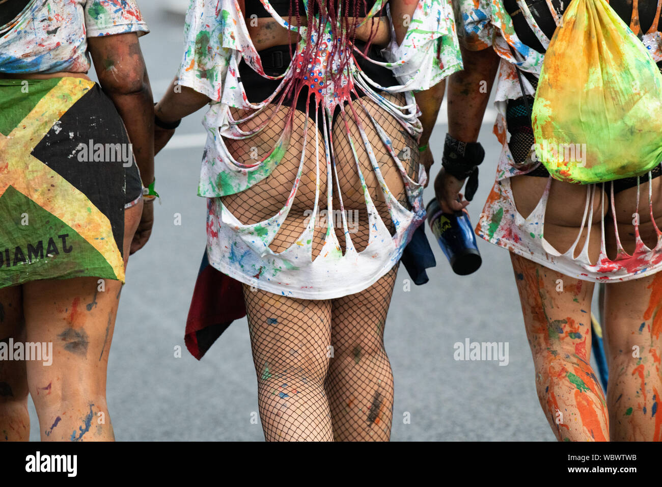
[[[120,290],[152,229],[149,30],[134,0],[0,4],[0,440],[28,440],[29,392],[42,440],[111,441]]]

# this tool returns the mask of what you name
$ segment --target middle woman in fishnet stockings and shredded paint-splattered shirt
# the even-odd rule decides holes
[[[267,440],[389,439],[385,319],[460,68],[447,1],[191,3],[156,149],[211,102],[207,258],[243,285]]]

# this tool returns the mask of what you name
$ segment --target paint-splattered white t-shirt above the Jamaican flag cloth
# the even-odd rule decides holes
[[[149,32],[135,0],[31,0],[0,26],[0,73],[86,73],[87,38]]]

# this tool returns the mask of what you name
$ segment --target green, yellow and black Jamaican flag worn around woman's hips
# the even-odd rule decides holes
[[[0,288],[124,282],[124,209],[141,195],[126,129],[97,83],[0,79]]]

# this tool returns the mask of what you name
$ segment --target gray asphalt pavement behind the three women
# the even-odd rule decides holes
[[[177,70],[183,17],[139,1],[152,33],[142,37],[155,99]],[[132,256],[110,354],[108,404],[118,440],[261,441],[246,319],[236,321],[200,362],[185,349],[183,333],[205,248],[205,199],[197,197],[203,111],[183,121],[156,160],[156,225],[147,246]],[[448,127],[432,140],[442,153]],[[204,140],[204,137],[201,139]],[[493,184],[500,146],[483,125],[487,152],[481,188],[469,205],[476,222]],[[438,157],[432,178],[440,168]],[[432,199],[428,188],[426,201]],[[175,225],[176,214],[181,225]],[[430,282],[404,291],[399,270],[385,327],[395,376],[394,441],[553,441],[538,404],[534,368],[508,252],[479,241],[482,268],[456,276],[432,240],[436,268]],[[509,363],[456,361],[453,344],[508,342]],[[181,347],[181,358],[175,348]],[[38,440],[34,407],[31,439]],[[408,415],[406,413],[409,413]],[[405,417],[410,417],[406,423]]]

